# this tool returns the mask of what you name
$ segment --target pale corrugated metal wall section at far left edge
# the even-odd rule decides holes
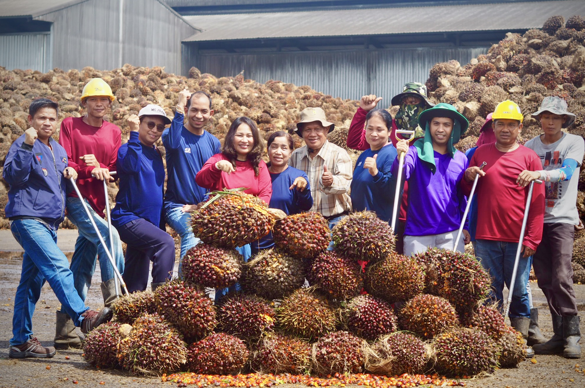
[[[50,33],[0,35],[0,66],[49,71],[53,68]]]

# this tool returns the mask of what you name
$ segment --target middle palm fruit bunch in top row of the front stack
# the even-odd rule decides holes
[[[318,212],[291,214],[274,225],[272,237],[278,249],[296,259],[311,259],[329,246],[329,223]]]

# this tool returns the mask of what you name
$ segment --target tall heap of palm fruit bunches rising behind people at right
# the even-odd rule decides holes
[[[475,146],[487,114],[504,99],[516,102],[524,114],[522,143],[542,133],[531,117],[542,99],[558,96],[577,115],[569,132],[585,135],[585,19],[552,16],[541,29],[523,35],[507,33],[487,54],[467,64],[452,60],[435,64],[426,87],[439,102],[455,105],[470,128],[459,141],[460,150]]]

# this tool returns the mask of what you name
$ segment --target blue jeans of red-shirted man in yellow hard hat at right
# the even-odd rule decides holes
[[[506,287],[510,287],[518,243],[477,239],[476,248],[481,265],[492,278],[491,299],[497,300],[501,310],[504,300],[504,283]],[[528,283],[530,276],[530,262],[530,257],[522,257],[522,255],[518,260],[518,270],[512,292],[510,313],[508,314],[510,318],[530,317],[528,292],[526,291],[526,283]]]

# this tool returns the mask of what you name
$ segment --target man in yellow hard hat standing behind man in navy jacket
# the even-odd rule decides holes
[[[112,89],[101,78],[93,78],[85,84],[81,94],[81,105],[86,114],[81,117],[68,117],[61,122],[59,144],[67,152],[68,165],[77,171],[77,186],[82,198],[75,191],[67,195],[67,218],[77,226],[79,236],[75,242],[75,252],[71,257],[71,272],[74,285],[81,300],[85,301],[91,286],[91,277],[99,257],[102,283],[100,284],[105,307],[116,299],[114,271],[106,249],[111,252],[120,273],[124,272],[122,243],[116,229],[112,228],[110,242],[108,223],[104,220],[105,194],[104,183],[115,180],[110,171],[116,170],[116,157],[121,145],[122,132],[115,124],[105,120],[114,100]],[[91,224],[82,200],[85,200],[99,234],[106,246],[99,242],[97,232]],[[75,325],[65,310],[57,311],[57,326],[54,338],[57,349],[81,348],[80,337],[75,334]]]

